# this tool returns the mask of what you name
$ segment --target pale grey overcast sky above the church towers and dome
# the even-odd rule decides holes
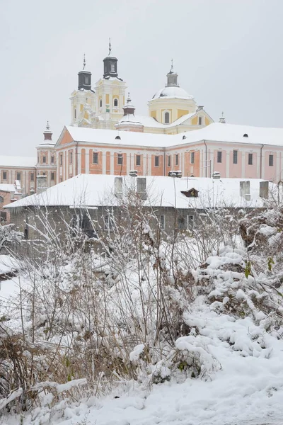
[[[283,127],[282,0],[0,0],[0,154],[35,156],[70,123],[86,53],[93,86],[108,38],[139,115],[179,83],[218,121]]]

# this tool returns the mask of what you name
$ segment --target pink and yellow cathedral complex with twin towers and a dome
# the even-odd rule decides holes
[[[139,115],[111,46],[102,65],[93,86],[83,60],[70,97],[70,123],[56,141],[47,123],[36,157],[0,155],[0,210],[9,185],[18,196],[28,196],[78,174],[168,176],[178,171],[178,176],[211,177],[216,172],[282,180],[283,129],[226,124],[223,116],[214,123],[180,87],[173,62],[165,86],[148,102],[148,115]]]

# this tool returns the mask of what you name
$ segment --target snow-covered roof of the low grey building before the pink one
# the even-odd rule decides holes
[[[93,207],[99,205],[116,205],[114,196],[116,176],[79,174],[72,179],[48,188],[37,195],[28,196],[4,208],[26,206],[69,206]],[[262,207],[260,198],[260,179],[250,179],[250,200],[240,196],[240,182],[247,179],[208,179],[201,177],[172,178],[163,176],[146,176],[146,205],[154,207],[175,208],[212,208],[226,205],[234,208]],[[137,178],[123,177],[125,194],[127,188],[133,188]],[[276,185],[269,183],[270,193]],[[181,191],[196,189],[197,198],[187,198]],[[271,195],[270,195],[271,196]]]

